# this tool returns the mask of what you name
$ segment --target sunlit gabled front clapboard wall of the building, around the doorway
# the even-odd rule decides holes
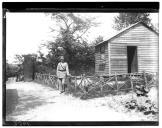
[[[138,72],[158,71],[158,35],[138,24],[110,42],[111,74],[127,73],[127,46],[137,46]]]

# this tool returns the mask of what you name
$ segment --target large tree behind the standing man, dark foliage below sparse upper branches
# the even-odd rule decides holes
[[[49,66],[56,68],[60,55],[64,55],[69,67],[72,69],[90,67],[94,65],[94,52],[89,46],[84,35],[91,27],[97,25],[94,18],[83,18],[73,13],[52,13],[49,14],[57,24],[51,27],[52,32],[57,32],[55,40],[45,43],[49,49],[46,56]],[[64,52],[60,52],[58,47],[63,47]]]

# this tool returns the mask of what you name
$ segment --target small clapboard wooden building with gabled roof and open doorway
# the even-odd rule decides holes
[[[125,28],[95,46],[95,73],[158,72],[158,38],[143,22]]]

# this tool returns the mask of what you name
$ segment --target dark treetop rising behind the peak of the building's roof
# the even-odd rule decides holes
[[[121,30],[139,21],[142,21],[150,26],[151,19],[149,18],[149,15],[149,13],[119,13],[119,15],[115,17],[115,24],[113,28]]]

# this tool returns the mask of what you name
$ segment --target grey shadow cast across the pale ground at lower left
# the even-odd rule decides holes
[[[16,89],[12,89],[12,91],[10,90],[9,92],[10,93],[6,95],[6,115],[10,114],[10,116],[8,116],[8,120],[12,120],[14,116],[17,115],[23,115],[41,105],[55,103],[34,95],[25,94],[18,96]]]

